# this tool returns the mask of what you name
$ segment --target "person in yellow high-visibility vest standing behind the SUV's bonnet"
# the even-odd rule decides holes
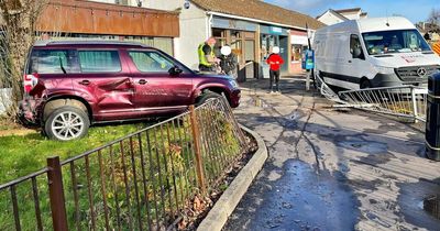
[[[199,56],[199,69],[200,72],[213,72],[215,64],[218,63],[213,46],[216,45],[216,38],[209,37],[205,43],[200,44],[198,47]]]

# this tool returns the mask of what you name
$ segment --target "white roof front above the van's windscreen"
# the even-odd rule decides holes
[[[361,33],[416,29],[416,26],[409,20],[403,16],[362,19],[358,20],[358,24]]]

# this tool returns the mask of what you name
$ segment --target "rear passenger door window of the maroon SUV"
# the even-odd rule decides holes
[[[118,51],[79,51],[82,73],[119,73],[121,62]]]

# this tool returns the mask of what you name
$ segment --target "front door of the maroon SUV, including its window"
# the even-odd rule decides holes
[[[156,50],[130,50],[128,55],[136,110],[174,110],[191,103],[193,76],[183,65]],[[170,74],[174,67],[183,73]]]

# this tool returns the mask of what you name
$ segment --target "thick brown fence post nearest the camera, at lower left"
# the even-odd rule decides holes
[[[47,179],[52,211],[52,221],[55,231],[66,231],[67,215],[63,189],[63,175],[59,156],[47,158]]]

